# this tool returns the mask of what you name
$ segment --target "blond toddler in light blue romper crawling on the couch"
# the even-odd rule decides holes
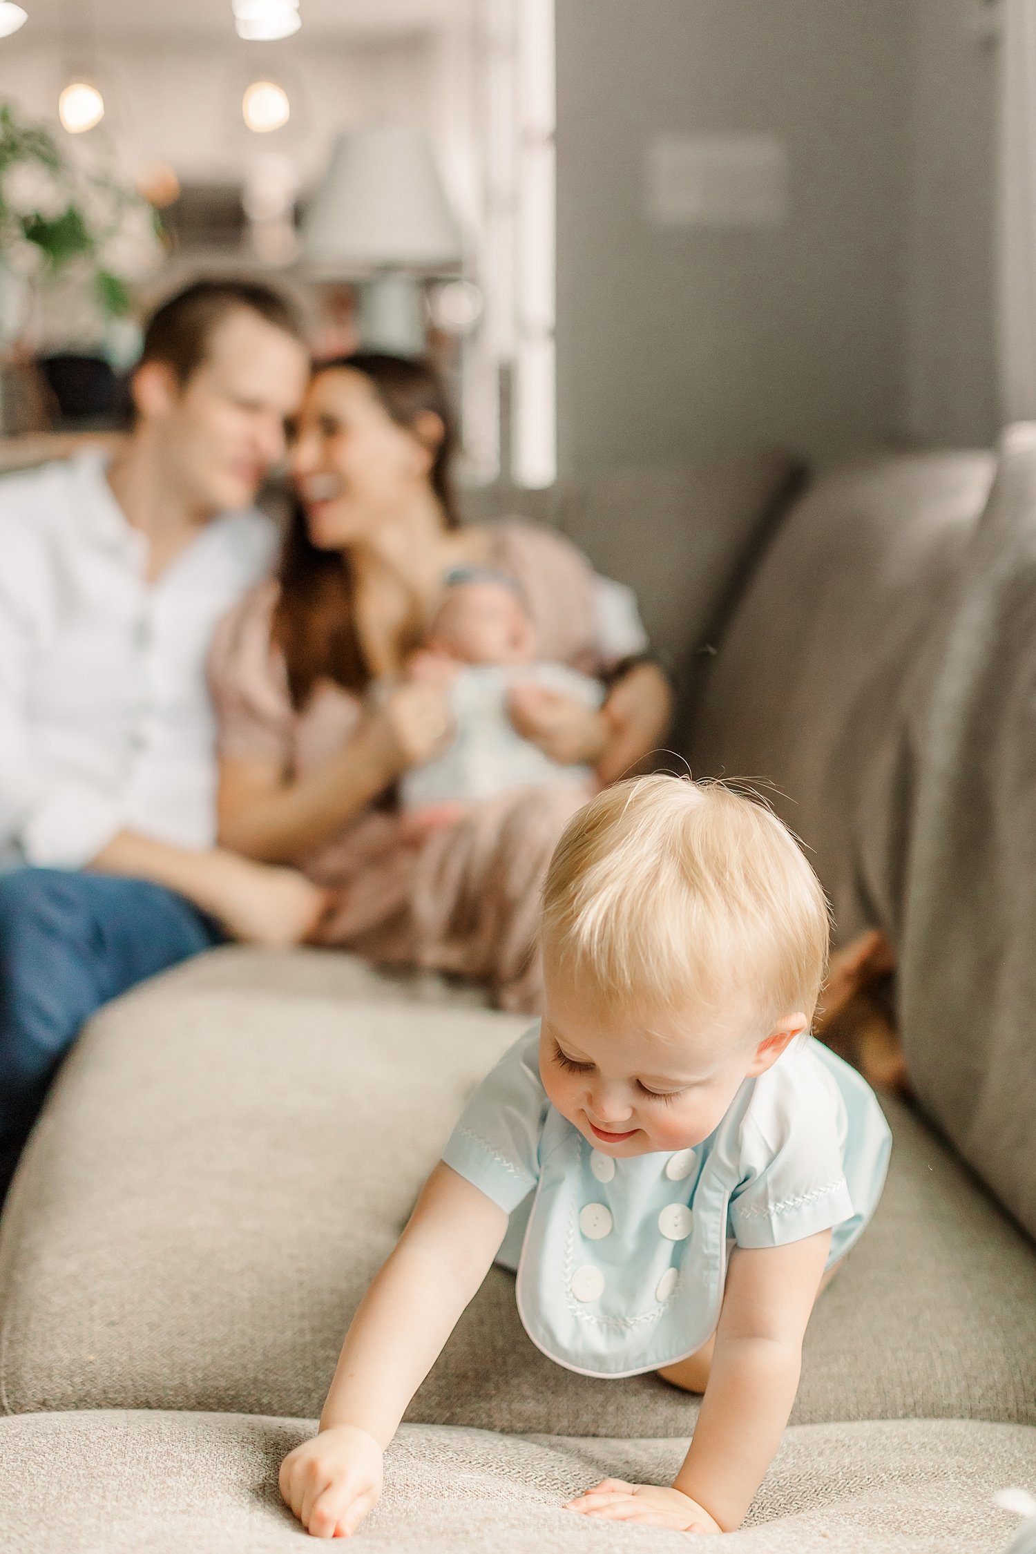
[[[353,1319],[320,1434],[281,1467],[318,1537],[376,1504],[382,1453],[497,1253],[558,1364],[705,1394],[673,1484],[604,1479],[568,1509],[735,1529],[817,1293],[881,1195],[878,1102],[809,1037],[823,892],[761,803],[676,777],[606,789],[553,856],[542,948],[542,1023],[464,1108]]]

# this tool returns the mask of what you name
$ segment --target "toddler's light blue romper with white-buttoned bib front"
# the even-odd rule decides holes
[[[511,1215],[499,1260],[517,1267],[533,1343],[570,1371],[623,1377],[701,1349],[732,1245],[833,1229],[828,1265],[843,1257],[890,1144],[870,1086],[809,1040],[746,1078],[702,1144],[612,1159],[547,1100],[537,1024],[471,1097],[443,1159]]]

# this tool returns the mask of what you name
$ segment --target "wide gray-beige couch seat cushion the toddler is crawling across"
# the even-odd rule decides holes
[[[154,984],[71,1054],[0,1228],[6,1411],[315,1416],[348,1316],[466,1091],[523,1021]],[[795,1420],[1036,1422],[1036,1254],[902,1108],[881,1211],[819,1302]],[[685,1434],[652,1375],[553,1364],[492,1270],[410,1417]]]

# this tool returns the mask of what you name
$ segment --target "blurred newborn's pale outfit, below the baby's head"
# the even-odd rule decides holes
[[[471,664],[450,682],[449,701],[455,737],[450,746],[402,777],[405,810],[450,800],[492,799],[516,788],[548,782],[589,782],[589,766],[553,761],[531,740],[523,740],[508,716],[513,685],[545,685],[600,707],[601,682],[565,664]]]

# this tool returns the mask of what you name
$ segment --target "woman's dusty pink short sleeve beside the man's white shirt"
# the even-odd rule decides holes
[[[228,760],[290,761],[295,713],[284,662],[270,646],[276,584],[259,583],[217,625],[208,653],[208,688],[217,747]]]

